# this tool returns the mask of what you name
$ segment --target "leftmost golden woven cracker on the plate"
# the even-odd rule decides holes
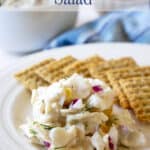
[[[46,59],[38,64],[35,64],[23,71],[20,71],[15,74],[15,78],[21,82],[26,89],[33,90],[39,86],[47,86],[48,82],[44,81],[42,78],[35,74],[35,70],[44,67],[47,64],[50,64],[54,59]]]

